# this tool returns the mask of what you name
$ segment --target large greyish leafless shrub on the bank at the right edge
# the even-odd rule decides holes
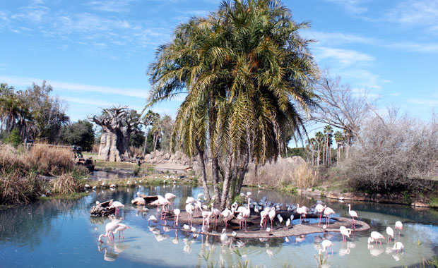
[[[362,130],[358,146],[345,162],[355,188],[393,192],[432,187],[438,178],[438,123],[424,123],[389,111],[377,115]]]

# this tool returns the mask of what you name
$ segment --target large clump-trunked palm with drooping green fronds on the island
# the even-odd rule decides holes
[[[297,105],[307,110],[314,104],[316,73],[309,40],[297,33],[304,27],[278,1],[235,0],[183,23],[158,49],[149,69],[149,105],[187,90],[172,140],[191,155],[208,142],[215,195],[218,159],[225,159],[221,207],[249,158],[256,164],[276,159],[285,149],[284,133],[300,135],[304,128]]]

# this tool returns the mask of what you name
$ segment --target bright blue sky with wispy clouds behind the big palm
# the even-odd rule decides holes
[[[422,119],[438,105],[437,0],[283,1],[319,68],[344,83]],[[191,16],[220,1],[114,0],[0,2],[0,83],[16,89],[47,80],[73,121],[101,107],[141,110],[146,69],[159,44]],[[174,115],[179,100],[153,107]]]

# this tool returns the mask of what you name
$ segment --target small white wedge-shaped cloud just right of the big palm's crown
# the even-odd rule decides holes
[[[374,57],[368,54],[348,49],[333,49],[330,47],[316,47],[316,59],[331,59],[343,66],[350,66],[353,63],[374,61]]]

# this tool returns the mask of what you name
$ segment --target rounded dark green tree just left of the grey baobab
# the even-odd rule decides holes
[[[64,126],[61,129],[60,140],[69,145],[81,146],[85,151],[92,150],[95,140],[93,123],[88,120],[79,120],[69,126]]]

